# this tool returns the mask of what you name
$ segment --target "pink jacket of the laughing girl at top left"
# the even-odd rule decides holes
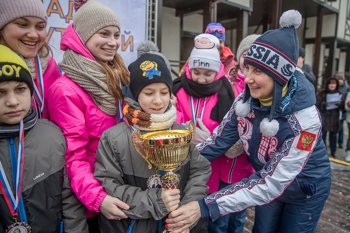
[[[49,87],[59,77],[61,77],[61,72],[59,71],[57,63],[56,63],[54,58],[49,57],[49,61],[47,63],[47,68],[43,74],[43,80],[44,80],[44,114],[43,114],[43,117],[46,119],[49,119],[49,120],[50,120],[49,111],[47,109],[47,104],[46,104],[47,103],[47,93],[48,93]],[[35,86],[37,88],[39,88],[36,80],[34,80],[34,83],[35,83]],[[33,101],[33,107],[36,108],[34,101]]]

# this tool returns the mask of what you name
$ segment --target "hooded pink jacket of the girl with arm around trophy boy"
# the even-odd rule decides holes
[[[67,48],[93,59],[72,24],[61,39],[61,49]],[[107,195],[93,178],[95,153],[101,134],[116,125],[117,118],[102,112],[90,95],[65,74],[49,88],[47,106],[50,120],[63,130],[67,141],[65,157],[72,190],[86,206],[86,217],[93,217]]]

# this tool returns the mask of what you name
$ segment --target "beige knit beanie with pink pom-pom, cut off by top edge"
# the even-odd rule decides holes
[[[73,26],[84,44],[101,28],[117,26],[120,30],[116,13],[102,3],[94,0],[75,0],[73,5],[76,11],[73,15]]]

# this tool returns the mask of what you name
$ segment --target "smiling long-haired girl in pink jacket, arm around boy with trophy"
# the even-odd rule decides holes
[[[120,24],[117,15],[98,1],[74,2],[73,24],[64,31],[59,65],[65,73],[48,91],[50,120],[67,141],[66,166],[72,190],[86,206],[90,232],[98,232],[97,213],[109,219],[126,218],[93,178],[95,153],[101,134],[123,120],[121,87],[129,73],[117,53]],[[96,216],[96,217],[94,217]]]

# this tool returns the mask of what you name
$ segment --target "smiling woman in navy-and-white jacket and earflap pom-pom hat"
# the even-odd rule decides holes
[[[244,58],[244,94],[197,147],[211,161],[241,139],[257,172],[173,211],[166,220],[170,227],[255,206],[252,232],[315,232],[331,174],[314,86],[295,71],[300,24],[300,13],[288,10],[280,18],[282,28],[254,41]]]

